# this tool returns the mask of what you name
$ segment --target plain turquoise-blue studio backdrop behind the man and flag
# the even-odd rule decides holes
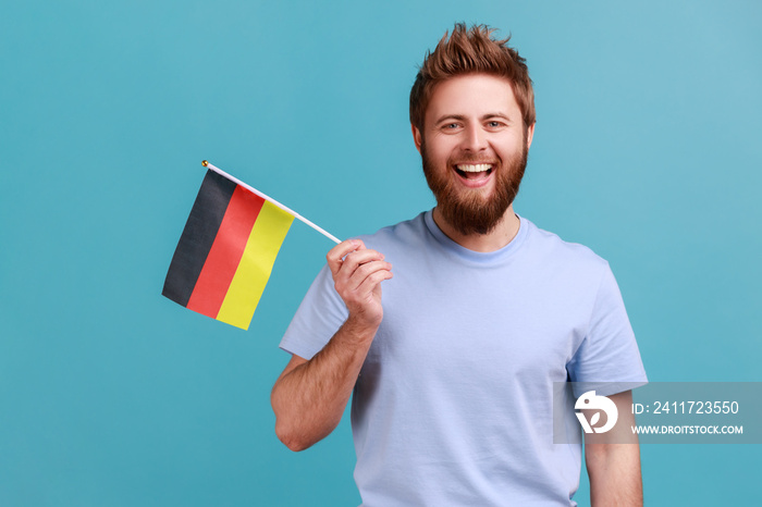
[[[433,206],[407,97],[455,21],[527,58],[516,209],[611,262],[651,380],[762,380],[761,4],[465,3],[3,4],[2,505],[359,503],[347,421],[292,454],[269,405],[331,242],[293,225],[248,332],[161,286],[201,159],[340,237]],[[757,503],[760,457],[643,446],[647,504]]]

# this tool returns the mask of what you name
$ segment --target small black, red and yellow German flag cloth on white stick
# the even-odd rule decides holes
[[[208,170],[162,295],[248,330],[294,215]]]

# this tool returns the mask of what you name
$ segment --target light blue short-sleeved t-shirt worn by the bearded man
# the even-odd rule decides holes
[[[607,262],[524,218],[493,252],[431,211],[361,239],[394,272],[352,401],[362,505],[576,505],[581,444],[553,444],[553,382],[646,382]],[[347,314],[325,267],[281,348],[310,359]]]

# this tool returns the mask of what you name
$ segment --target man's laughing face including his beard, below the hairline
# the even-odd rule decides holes
[[[413,127],[442,218],[459,233],[487,234],[518,193],[534,126],[525,128],[507,79],[467,74],[439,84],[423,132]]]

